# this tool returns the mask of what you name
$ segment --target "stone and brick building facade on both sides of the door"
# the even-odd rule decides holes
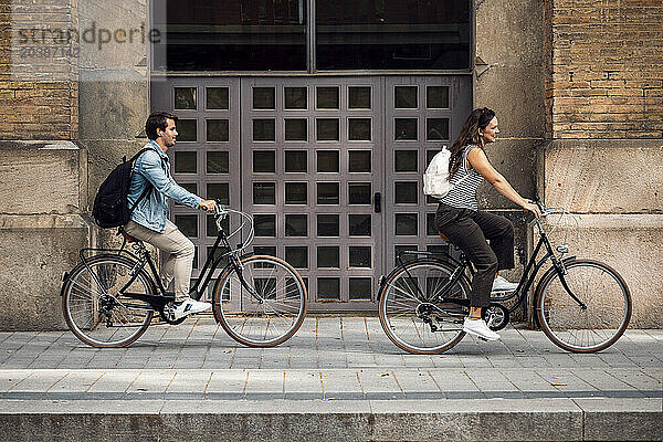
[[[577,214],[571,252],[614,266],[631,287],[632,325],[660,327],[663,2],[474,0],[473,10],[471,99],[497,112],[494,165],[520,193]],[[101,180],[145,143],[155,77],[138,35],[150,11],[143,0],[0,3],[1,329],[63,327],[61,273],[81,248],[113,241],[87,212]],[[23,42],[17,31],[34,23],[49,39],[94,27],[96,40],[21,62],[34,34]],[[526,257],[518,210],[487,186],[480,203],[517,221]]]

